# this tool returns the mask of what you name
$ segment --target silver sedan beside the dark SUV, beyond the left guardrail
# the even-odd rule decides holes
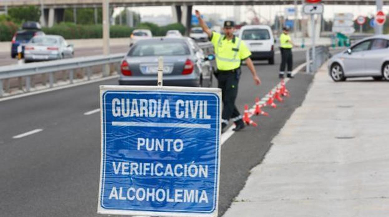
[[[68,45],[60,35],[34,36],[25,45],[25,62],[64,59],[73,56],[73,45]]]

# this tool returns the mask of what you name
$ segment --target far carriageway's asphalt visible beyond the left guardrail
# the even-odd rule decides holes
[[[110,47],[110,52],[112,54],[124,53],[129,50],[129,47],[126,45],[116,45]],[[84,48],[75,48],[74,57],[84,57],[84,56],[94,56],[103,54],[102,47],[84,47]],[[11,58],[11,50],[0,52],[0,66],[17,64],[17,59]]]

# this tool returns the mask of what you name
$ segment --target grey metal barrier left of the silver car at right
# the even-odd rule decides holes
[[[307,73],[315,73],[320,66],[327,61],[330,57],[329,49],[326,46],[316,46],[315,54],[312,52],[312,48],[307,50],[306,58],[307,58]]]

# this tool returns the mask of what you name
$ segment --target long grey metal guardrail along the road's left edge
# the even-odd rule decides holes
[[[203,50],[205,55],[213,53],[213,46],[210,42],[198,43],[200,49]],[[89,56],[89,57],[77,57],[71,59],[62,59],[45,62],[33,62],[28,64],[17,64],[0,67],[0,97],[4,96],[5,88],[4,82],[12,78],[19,79],[19,89],[23,92],[30,92],[32,85],[34,85],[32,77],[36,75],[48,75],[44,76],[42,83],[46,84],[48,77],[48,85],[46,88],[53,88],[56,79],[54,73],[58,71],[65,71],[68,73],[68,84],[74,83],[75,70],[85,69],[87,80],[91,80],[92,67],[103,66],[101,77],[109,76],[110,72],[105,71],[106,65],[110,64],[114,66],[116,72],[120,71],[120,62],[125,56],[125,53],[110,54],[108,56]],[[6,89],[9,89],[7,87]]]

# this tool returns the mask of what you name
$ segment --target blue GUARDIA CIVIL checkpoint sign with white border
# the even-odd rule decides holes
[[[217,216],[220,89],[101,86],[100,214]]]

